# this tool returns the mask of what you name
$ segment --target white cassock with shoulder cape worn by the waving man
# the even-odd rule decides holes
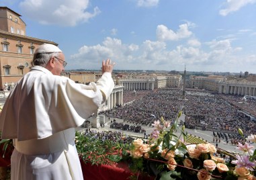
[[[34,66],[11,91],[0,116],[2,139],[13,139],[11,180],[83,179],[75,130],[114,88],[111,73],[77,84]]]

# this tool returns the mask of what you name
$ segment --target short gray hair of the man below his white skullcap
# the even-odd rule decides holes
[[[58,52],[34,54],[32,65],[45,67],[46,64],[49,62],[50,58],[52,58],[52,56],[58,56]]]

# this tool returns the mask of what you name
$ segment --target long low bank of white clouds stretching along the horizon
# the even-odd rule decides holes
[[[242,52],[243,48],[233,47],[229,39],[201,43],[192,38],[187,45],[170,48],[163,41],[124,44],[118,38],[107,37],[101,44],[81,47],[69,60],[72,66],[85,69],[99,69],[101,60],[111,58],[116,62],[115,69],[181,71],[185,64],[187,71],[250,71],[251,64],[256,64],[256,55],[243,55]]]

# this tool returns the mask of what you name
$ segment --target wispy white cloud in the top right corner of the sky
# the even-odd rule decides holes
[[[220,15],[226,16],[228,13],[232,13],[234,11],[239,11],[241,7],[249,4],[249,3],[255,3],[255,0],[226,0],[225,8],[220,9],[219,13]]]

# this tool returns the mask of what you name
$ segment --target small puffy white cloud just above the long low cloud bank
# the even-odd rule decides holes
[[[189,36],[191,36],[192,32],[189,31],[189,24],[179,25],[179,30],[177,30],[176,33],[173,32],[173,30],[169,30],[166,26],[161,24],[157,26],[156,34],[158,40],[167,41],[188,38]]]

